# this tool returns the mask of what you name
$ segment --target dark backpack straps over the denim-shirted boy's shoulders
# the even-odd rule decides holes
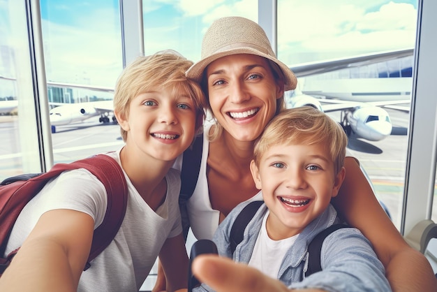
[[[262,203],[264,203],[264,201],[254,200],[253,202],[244,206],[242,212],[240,212],[235,218],[235,221],[230,229],[230,249],[232,251],[232,254],[234,253],[237,245],[242,242],[244,229],[246,229],[247,224],[249,224],[249,221],[251,221]],[[327,235],[333,233],[340,228],[346,227],[352,226],[348,226],[346,224],[334,224],[326,228],[324,231],[318,233],[316,237],[311,240],[308,245],[308,269],[305,272],[305,277],[309,277],[309,275],[315,272],[320,272],[322,270],[322,267],[320,265],[320,256],[322,252],[322,244]]]

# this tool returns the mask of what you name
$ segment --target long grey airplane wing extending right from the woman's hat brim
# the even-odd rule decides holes
[[[370,54],[360,54],[353,57],[330,59],[325,61],[315,61],[302,63],[290,66],[290,69],[295,73],[297,78],[305,77],[314,74],[327,73],[340,70],[343,68],[351,68],[354,66],[364,66],[390,59],[398,59],[413,55],[414,49],[408,48],[403,50],[391,50],[384,52],[374,52]]]

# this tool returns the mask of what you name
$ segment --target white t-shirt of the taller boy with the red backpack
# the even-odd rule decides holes
[[[120,164],[119,151],[108,155]],[[178,170],[170,168],[165,176],[167,196],[156,212],[141,198],[126,173],[124,176],[128,185],[124,220],[114,240],[82,272],[77,291],[138,291],[165,240],[182,233]],[[106,205],[105,187],[88,170],[64,172],[48,182],[24,207],[13,227],[6,254],[22,245],[44,212],[54,209],[84,212],[94,219],[97,228],[103,221]]]

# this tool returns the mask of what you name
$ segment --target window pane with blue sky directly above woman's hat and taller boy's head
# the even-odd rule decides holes
[[[198,61],[203,34],[214,20],[242,16],[258,22],[258,0],[143,0],[145,54],[172,49]]]

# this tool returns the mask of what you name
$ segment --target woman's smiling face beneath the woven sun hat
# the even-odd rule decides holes
[[[232,137],[253,141],[274,117],[283,85],[273,78],[267,59],[234,54],[207,67],[209,104],[217,122]]]

